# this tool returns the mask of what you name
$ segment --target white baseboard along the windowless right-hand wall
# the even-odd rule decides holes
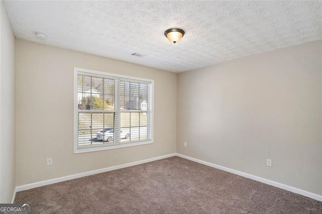
[[[290,192],[294,192],[294,193],[297,193],[297,194],[300,194],[300,195],[304,195],[306,197],[310,197],[310,198],[313,198],[313,199],[318,200],[318,201],[322,201],[322,195],[318,195],[318,194],[315,194],[315,193],[312,193],[312,192],[308,192],[308,191],[305,191],[305,190],[302,190],[302,189],[298,189],[296,187],[292,187],[292,186],[288,186],[288,185],[278,183],[278,182],[275,182],[275,181],[272,181],[272,180],[268,180],[266,178],[251,175],[251,174],[248,174],[248,173],[245,173],[245,172],[240,172],[240,171],[230,169],[230,168],[227,168],[227,167],[224,167],[224,166],[220,166],[220,165],[217,165],[217,164],[202,161],[202,160],[192,158],[192,157],[189,157],[189,156],[186,156],[186,155],[182,155],[182,154],[179,154],[179,153],[177,153],[176,156],[181,157],[181,158],[185,158],[185,159],[197,162],[197,163],[201,163],[201,164],[204,164],[204,165],[216,168],[216,169],[221,169],[223,171],[230,172],[230,173],[233,173],[233,174],[236,174],[236,175],[240,175],[240,176],[243,176],[243,177],[246,177],[246,178],[250,178],[252,180],[256,180],[256,181],[259,181],[259,182],[262,182],[262,183],[266,183],[266,184],[269,184],[271,186],[275,186],[275,187],[278,187],[278,188],[281,188],[281,189],[285,189],[285,190],[290,191]]]

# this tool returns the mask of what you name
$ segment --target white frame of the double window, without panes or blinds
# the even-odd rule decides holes
[[[78,74],[84,74],[88,76],[100,76],[104,78],[110,78],[115,79],[115,98],[119,94],[119,81],[120,79],[129,79],[133,81],[142,81],[147,82],[151,84],[151,103],[150,103],[150,134],[151,138],[150,140],[143,140],[139,142],[127,142],[122,144],[116,144],[116,145],[98,145],[98,146],[88,146],[87,148],[78,148]],[[74,147],[74,154],[77,153],[85,153],[85,152],[96,152],[96,151],[102,151],[102,150],[110,150],[110,149],[118,149],[118,148],[124,148],[124,147],[131,147],[131,146],[139,146],[139,145],[145,145],[145,144],[151,144],[153,143],[153,103],[154,103],[154,80],[153,79],[144,79],[139,77],[133,77],[133,76],[125,76],[120,74],[114,74],[114,73],[107,73],[102,71],[96,71],[96,70],[89,70],[84,68],[74,68],[74,139],[73,139],[73,147]],[[118,104],[116,104],[118,105]],[[116,114],[120,113],[120,110],[118,110],[118,106],[115,105],[115,111]],[[118,133],[118,130],[116,129],[116,133]],[[116,137],[117,138],[117,137]]]

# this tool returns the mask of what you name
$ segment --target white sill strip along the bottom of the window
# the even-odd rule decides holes
[[[119,149],[124,147],[131,147],[131,146],[140,146],[145,144],[152,144],[153,141],[141,141],[141,142],[134,142],[134,143],[122,143],[117,145],[101,145],[101,146],[84,146],[83,148],[74,148],[74,154],[78,153],[86,153],[86,152],[97,152],[97,151],[103,151],[103,150],[110,150],[110,149]]]

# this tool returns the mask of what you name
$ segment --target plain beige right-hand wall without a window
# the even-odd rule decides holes
[[[178,153],[322,194],[321,41],[180,73],[177,90]]]

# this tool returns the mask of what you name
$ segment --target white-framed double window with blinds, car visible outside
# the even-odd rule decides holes
[[[152,143],[153,80],[74,69],[74,153]]]

